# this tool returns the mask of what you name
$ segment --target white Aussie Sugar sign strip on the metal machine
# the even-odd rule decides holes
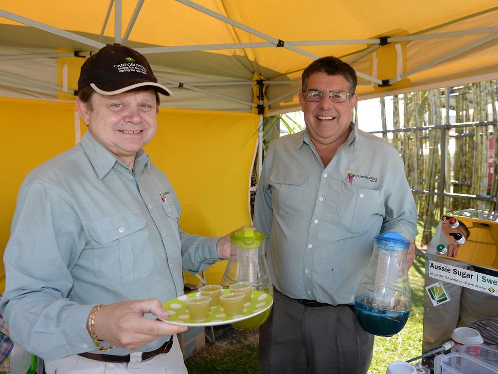
[[[429,261],[429,276],[434,279],[498,296],[498,277],[436,261]]]

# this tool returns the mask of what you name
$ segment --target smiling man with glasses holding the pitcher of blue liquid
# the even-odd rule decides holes
[[[254,226],[266,234],[274,285],[260,328],[260,373],[367,373],[373,335],[354,297],[375,235],[413,240],[416,207],[399,153],[351,121],[354,69],[335,57],[302,74],[306,130],[274,142],[256,192]],[[410,246],[408,265],[415,257]]]

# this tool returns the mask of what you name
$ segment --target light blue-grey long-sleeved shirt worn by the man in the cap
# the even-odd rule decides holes
[[[219,260],[219,238],[183,232],[180,210],[145,152],[131,172],[89,132],[31,171],[3,257],[0,309],[14,342],[49,361],[89,352],[95,346],[86,322],[95,305],[182,295],[182,267],[198,272]]]

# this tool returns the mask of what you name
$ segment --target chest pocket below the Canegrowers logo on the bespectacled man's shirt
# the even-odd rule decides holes
[[[342,181],[336,225],[342,230],[362,234],[374,224],[382,224],[385,215],[382,189],[370,189]]]

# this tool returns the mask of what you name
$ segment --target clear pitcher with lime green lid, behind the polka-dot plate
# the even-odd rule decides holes
[[[232,248],[221,282],[224,288],[229,288],[238,282],[250,282],[252,290],[265,292],[273,297],[273,286],[264,255],[264,239],[265,235],[262,232],[254,231],[251,227],[230,234]],[[236,322],[232,326],[240,330],[255,329],[267,320],[270,312],[271,308],[257,316]]]

